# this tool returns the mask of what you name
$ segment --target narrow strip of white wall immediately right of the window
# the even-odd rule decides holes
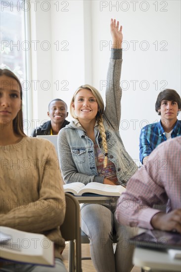
[[[32,127],[36,127],[47,119],[47,105],[52,98],[51,14],[44,11],[46,5],[30,3]]]

